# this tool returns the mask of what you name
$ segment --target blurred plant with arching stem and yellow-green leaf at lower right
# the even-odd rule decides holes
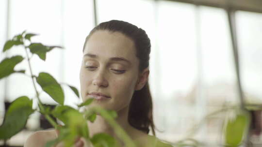
[[[223,146],[225,147],[240,147],[248,139],[248,131],[252,119],[249,113],[250,110],[252,110],[252,108],[250,108],[249,105],[246,105],[245,108],[241,108],[239,105],[225,105],[222,109],[206,115],[199,123],[191,128],[184,139],[175,142],[173,145],[175,145],[175,147],[206,147],[203,143],[191,137],[199,131],[207,120],[212,119],[216,115],[224,114],[226,118],[223,118],[224,124],[221,130],[221,137],[223,138],[222,144],[224,144]]]

